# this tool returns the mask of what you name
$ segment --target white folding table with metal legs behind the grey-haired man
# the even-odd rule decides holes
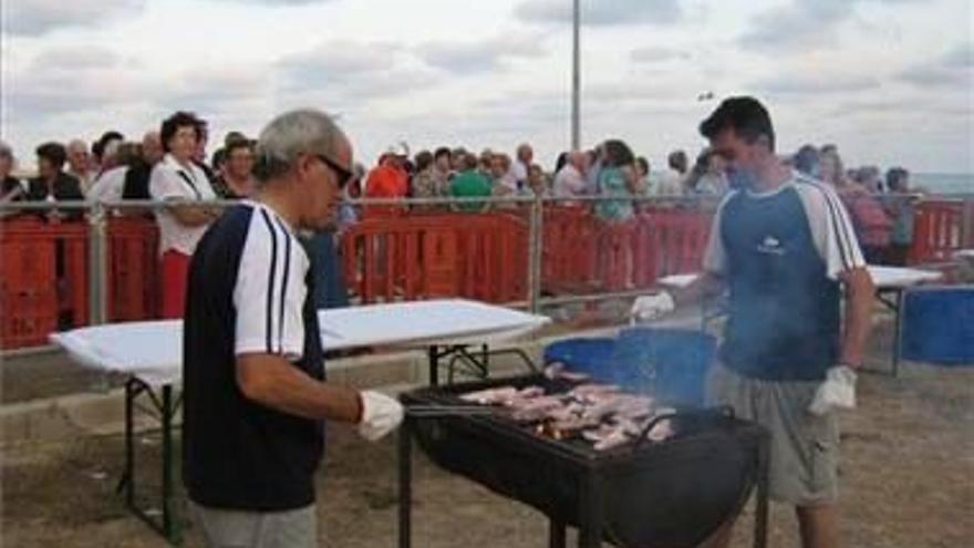
[[[425,348],[429,358],[429,382],[438,383],[441,359],[454,355],[486,375],[489,343],[516,339],[545,325],[546,317],[481,302],[450,299],[374,304],[319,311],[321,341],[325,352],[369,347]],[[81,328],[51,335],[69,355],[84,366],[121,373],[125,382],[125,469],[118,484],[128,508],[170,542],[180,540],[173,513],[173,421],[180,405],[175,386],[183,375],[182,320],[114,323]],[[480,353],[469,347],[480,345]],[[530,359],[519,353],[533,368]],[[495,352],[496,353],[496,352]],[[135,502],[134,411],[139,395],[155,415],[162,434],[162,508],[157,521]]]

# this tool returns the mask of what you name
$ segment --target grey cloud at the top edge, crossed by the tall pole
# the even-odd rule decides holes
[[[570,23],[569,0],[524,0],[515,15],[531,23]],[[582,2],[581,22],[586,25],[672,24],[683,19],[678,0],[590,0]]]

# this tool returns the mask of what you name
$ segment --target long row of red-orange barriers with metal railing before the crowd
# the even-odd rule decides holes
[[[715,204],[639,198],[631,220],[609,224],[591,213],[599,199],[352,200],[395,204],[398,213],[344,229],[342,269],[360,303],[466,297],[538,310],[644,290],[701,268]],[[449,209],[465,201],[491,209]],[[424,208],[402,213],[404,204]],[[0,204],[8,215],[0,220],[0,348],[43,345],[53,331],[89,323],[156,318],[158,230],[146,208],[158,207]],[[974,248],[972,225],[974,197],[918,201],[911,261]]]

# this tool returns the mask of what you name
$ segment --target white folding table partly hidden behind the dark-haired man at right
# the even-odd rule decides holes
[[[885,267],[869,265],[866,267],[875,286],[875,298],[889,308],[895,316],[895,329],[893,331],[893,375],[900,373],[900,335],[901,317],[900,308],[903,303],[903,292],[906,289],[921,283],[936,281],[943,277],[941,272],[933,270],[920,270],[916,268]],[[690,286],[700,272],[673,275],[661,278],[659,285],[672,289],[682,289]]]

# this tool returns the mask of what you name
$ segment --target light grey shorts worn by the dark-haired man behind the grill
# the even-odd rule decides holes
[[[707,379],[713,405],[770,433],[769,494],[796,506],[822,506],[839,495],[839,425],[835,413],[808,412],[818,382],[773,382],[742,376],[717,364]]]

